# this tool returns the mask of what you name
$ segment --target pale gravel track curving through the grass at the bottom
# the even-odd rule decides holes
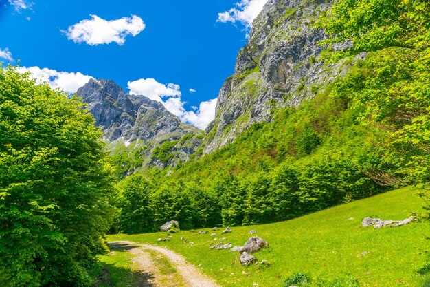
[[[142,273],[149,273],[152,275],[148,284],[138,285],[138,286],[159,286],[166,287],[166,278],[160,278],[162,275],[157,272],[157,264],[153,261],[148,251],[156,251],[161,253],[172,266],[178,271],[179,276],[182,280],[178,278],[171,277],[168,279],[169,286],[187,286],[187,287],[220,287],[215,281],[203,275],[194,265],[188,263],[185,258],[173,251],[159,246],[152,246],[149,244],[138,244],[129,241],[117,241],[111,242],[113,244],[118,244],[125,248],[128,252],[135,255],[135,262],[137,262],[137,267]],[[145,252],[146,251],[146,252]],[[182,282],[181,282],[182,281]]]

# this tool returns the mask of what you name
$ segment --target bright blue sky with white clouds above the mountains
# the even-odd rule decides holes
[[[0,0],[0,61],[67,92],[112,79],[203,129],[266,2]]]

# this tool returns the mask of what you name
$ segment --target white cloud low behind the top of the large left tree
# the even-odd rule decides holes
[[[46,81],[53,89],[60,88],[69,94],[75,93],[80,87],[88,83],[90,78],[93,78],[80,72],[58,72],[48,68],[41,69],[40,67],[19,67],[18,71],[21,73],[30,72],[32,78],[41,82]]]

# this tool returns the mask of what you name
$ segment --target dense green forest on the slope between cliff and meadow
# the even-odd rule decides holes
[[[142,213],[147,220],[133,228],[120,220],[118,228],[140,233],[168,220],[181,228],[277,222],[380,193],[385,187],[365,171],[381,159],[363,140],[384,134],[357,123],[357,114],[347,99],[326,92],[297,109],[275,110],[272,123],[252,125],[231,145],[181,164],[170,176],[146,171],[148,189],[133,179],[142,176],[131,176],[119,185],[119,204],[127,206],[122,216]]]

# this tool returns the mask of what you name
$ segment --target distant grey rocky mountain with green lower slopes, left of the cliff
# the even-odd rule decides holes
[[[181,123],[155,100],[127,94],[113,81],[91,79],[76,94],[88,104],[124,173],[188,160],[202,143],[199,129]]]

